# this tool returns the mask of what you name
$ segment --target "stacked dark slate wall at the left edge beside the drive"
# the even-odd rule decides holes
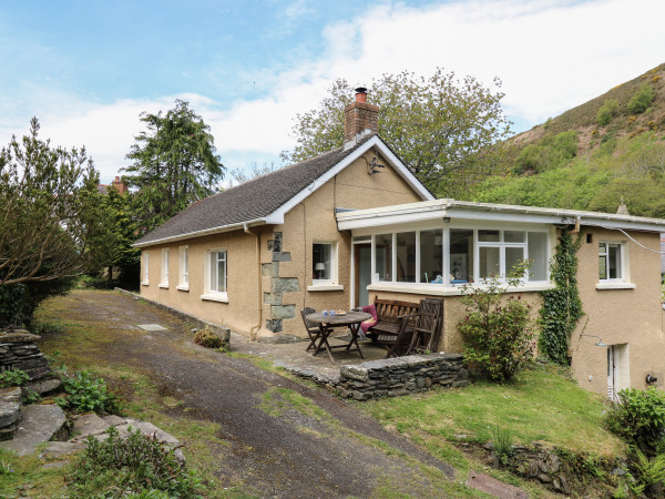
[[[38,339],[40,336],[25,329],[0,333],[0,371],[21,369],[31,380],[50,375],[49,363],[35,345]]]

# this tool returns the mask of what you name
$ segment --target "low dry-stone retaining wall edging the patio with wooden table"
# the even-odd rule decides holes
[[[469,373],[461,354],[409,355],[342,366],[339,378],[321,378],[313,371],[294,370],[314,379],[340,397],[369,400],[417,394],[433,386],[469,385]]]

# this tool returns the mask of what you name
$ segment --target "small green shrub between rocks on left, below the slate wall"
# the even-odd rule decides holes
[[[57,404],[62,408],[70,408],[76,413],[104,411],[117,414],[120,408],[115,397],[109,393],[102,378],[95,378],[88,370],[78,373],[60,371],[62,386],[66,396],[57,398]]]

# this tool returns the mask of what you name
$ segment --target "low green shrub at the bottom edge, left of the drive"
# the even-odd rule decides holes
[[[70,497],[162,499],[201,497],[201,481],[177,460],[166,445],[139,430],[126,439],[109,429],[109,438],[88,438],[88,447],[68,477]]]

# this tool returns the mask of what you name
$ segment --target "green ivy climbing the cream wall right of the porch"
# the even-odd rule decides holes
[[[550,360],[566,365],[571,334],[584,315],[577,291],[577,249],[582,244],[582,233],[575,241],[567,231],[561,231],[556,254],[550,266],[554,289],[541,293],[543,306],[540,310],[541,355]]]

